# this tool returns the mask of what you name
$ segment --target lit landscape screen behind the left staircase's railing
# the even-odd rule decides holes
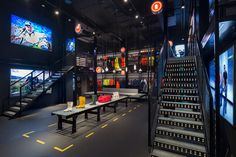
[[[20,95],[20,87],[23,84],[27,84],[27,82],[29,80],[31,80],[31,72],[33,72],[33,70],[31,69],[11,69],[11,73],[10,73],[10,84],[11,84],[11,89],[10,89],[10,94],[11,96],[19,96]],[[37,83],[41,83],[43,82],[43,74],[41,70],[35,70],[33,72],[33,77],[38,76],[37,81],[36,79],[32,79],[34,85],[36,85]],[[49,77],[49,72],[45,72],[45,79],[47,79]],[[30,91],[31,87],[30,84],[28,83],[26,86],[24,86],[22,88],[22,94],[28,93],[28,91]]]

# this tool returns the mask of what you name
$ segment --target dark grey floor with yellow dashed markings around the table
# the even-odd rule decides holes
[[[120,104],[117,113],[107,109],[101,122],[95,115],[78,117],[77,133],[71,126],[57,130],[57,117],[51,112],[64,105],[29,111],[26,116],[0,118],[1,157],[148,157],[147,104]],[[28,138],[24,137],[25,133]],[[87,137],[87,138],[86,138]]]

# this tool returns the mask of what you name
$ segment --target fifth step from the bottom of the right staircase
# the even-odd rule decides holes
[[[202,114],[200,112],[186,111],[186,110],[171,110],[160,109],[160,114],[168,117],[183,117],[196,119],[196,121],[202,120]]]

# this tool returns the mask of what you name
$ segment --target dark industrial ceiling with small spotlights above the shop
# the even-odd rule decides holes
[[[127,0],[126,3],[124,0],[41,0],[41,3],[59,8],[86,25],[87,31],[80,37],[83,41],[92,42],[93,32],[96,32],[100,45],[119,47],[123,42],[129,48],[136,49],[147,46],[160,48],[163,42],[162,14],[151,13],[152,2],[152,0]],[[186,39],[189,3],[189,0],[168,0],[169,39],[174,43],[184,42]],[[181,9],[182,5],[185,6],[184,9]],[[135,18],[136,15],[139,17]]]

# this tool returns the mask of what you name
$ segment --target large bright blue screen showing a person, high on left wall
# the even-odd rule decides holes
[[[52,51],[52,31],[47,27],[11,15],[11,43]]]

